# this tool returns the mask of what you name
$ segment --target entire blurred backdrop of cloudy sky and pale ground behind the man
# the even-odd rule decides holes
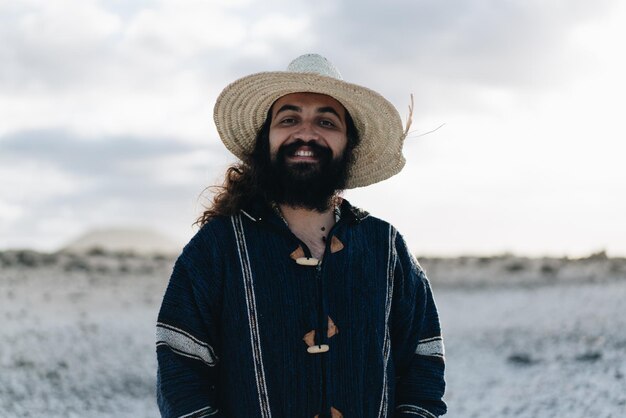
[[[624,22],[619,0],[0,0],[0,416],[157,415],[160,298],[234,162],[214,101],[307,52],[404,120],[414,95],[405,169],[346,197],[431,277],[449,416],[621,416]]]

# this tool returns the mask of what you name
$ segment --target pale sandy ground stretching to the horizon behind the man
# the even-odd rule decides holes
[[[449,417],[626,417],[626,261],[423,259]],[[156,417],[172,260],[0,253],[0,417]],[[352,417],[349,417],[352,418]]]

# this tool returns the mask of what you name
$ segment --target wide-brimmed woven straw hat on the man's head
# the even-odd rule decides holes
[[[400,115],[389,101],[366,87],[343,81],[335,66],[317,54],[296,58],[287,71],[240,78],[222,91],[213,118],[226,148],[241,159],[249,155],[272,104],[286,94],[298,92],[331,96],[352,116],[360,143],[353,150],[347,189],[377,183],[402,170],[402,144],[410,115],[403,129]]]

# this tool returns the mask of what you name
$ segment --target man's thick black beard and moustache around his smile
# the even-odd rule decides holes
[[[317,161],[287,162],[302,145],[311,148]],[[335,194],[345,188],[349,163],[347,150],[333,158],[330,148],[299,140],[281,146],[274,158],[270,157],[264,188],[276,203],[324,212]]]

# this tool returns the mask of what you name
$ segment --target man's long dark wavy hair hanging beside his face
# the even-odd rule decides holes
[[[267,188],[261,181],[264,173],[270,168],[269,133],[272,123],[272,109],[267,113],[265,122],[259,129],[255,138],[254,149],[246,155],[242,161],[235,163],[226,169],[224,182],[221,186],[209,186],[202,191],[214,192],[211,205],[206,207],[198,217],[195,225],[202,226],[216,216],[231,216],[239,212],[256,199],[265,202],[270,200]],[[352,150],[359,143],[359,134],[350,113],[346,110],[346,136],[348,139],[346,149],[352,161]]]

